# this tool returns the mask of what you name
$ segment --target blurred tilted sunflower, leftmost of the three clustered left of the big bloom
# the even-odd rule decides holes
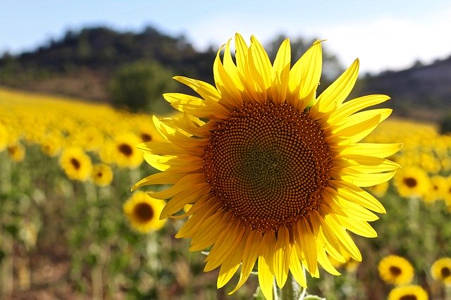
[[[59,158],[59,164],[71,180],[88,180],[92,172],[91,158],[78,147],[64,149]]]

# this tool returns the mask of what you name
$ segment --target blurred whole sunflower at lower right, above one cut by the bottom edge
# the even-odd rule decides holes
[[[412,264],[407,259],[396,255],[382,258],[378,270],[382,280],[392,285],[406,285],[412,282],[414,277]]]

